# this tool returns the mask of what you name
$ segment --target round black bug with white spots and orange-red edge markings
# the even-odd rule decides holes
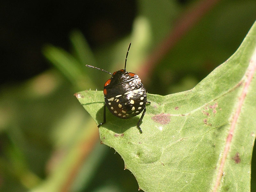
[[[91,65],[86,66],[112,75],[104,84],[103,93],[105,105],[103,111],[103,122],[100,123],[98,127],[106,123],[106,107],[114,116],[122,119],[137,116],[143,111],[140,116],[140,120],[137,123],[138,129],[142,133],[140,123],[146,113],[146,103],[150,102],[147,101],[146,89],[144,88],[139,76],[126,71],[126,62],[130,47],[131,43],[129,44],[126,53],[124,69],[120,69],[113,74]]]

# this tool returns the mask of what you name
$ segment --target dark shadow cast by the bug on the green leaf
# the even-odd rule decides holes
[[[96,113],[96,120],[99,124],[101,122],[103,122],[103,108],[104,107],[101,107]],[[101,127],[105,127],[108,130],[111,130],[115,133],[123,133],[132,127],[136,127],[136,129],[138,129],[137,123],[140,119],[139,116],[134,116],[134,117],[131,117],[128,119],[121,119],[121,118],[118,118],[118,117],[114,116],[113,114],[111,114],[107,109],[106,110],[106,123],[101,125]],[[136,131],[138,131],[138,130],[136,130]]]

